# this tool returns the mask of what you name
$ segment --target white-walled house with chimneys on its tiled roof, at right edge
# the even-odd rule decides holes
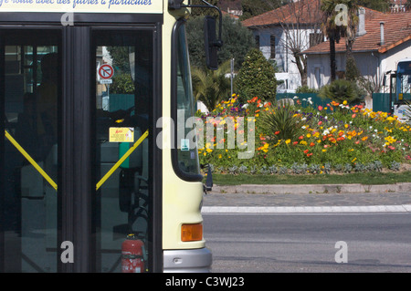
[[[337,78],[345,73],[346,47],[342,38],[335,45]],[[331,80],[330,43],[323,42],[303,51],[307,56],[308,85],[321,88]],[[360,74],[374,86],[375,92],[387,92],[385,73],[396,63],[411,58],[411,12],[380,13],[368,8],[359,11],[353,57]]]

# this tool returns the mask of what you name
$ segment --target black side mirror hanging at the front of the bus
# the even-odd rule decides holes
[[[207,68],[216,70],[218,68],[217,51],[221,47],[221,41],[216,39],[216,18],[205,16],[204,19],[204,45],[205,60]]]

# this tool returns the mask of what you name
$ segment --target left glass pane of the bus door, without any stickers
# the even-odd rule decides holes
[[[3,31],[5,272],[57,272],[58,33]],[[8,138],[7,138],[8,136]],[[12,143],[12,140],[15,143]],[[41,171],[28,161],[23,151]]]

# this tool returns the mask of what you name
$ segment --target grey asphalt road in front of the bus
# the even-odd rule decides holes
[[[205,213],[204,229],[214,273],[411,273],[411,213]]]

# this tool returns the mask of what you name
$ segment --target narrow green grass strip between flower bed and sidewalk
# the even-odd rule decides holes
[[[216,185],[241,184],[351,184],[366,185],[394,184],[396,182],[411,182],[411,171],[392,172],[355,172],[347,174],[317,174],[317,175],[248,175],[248,174],[213,174]]]

